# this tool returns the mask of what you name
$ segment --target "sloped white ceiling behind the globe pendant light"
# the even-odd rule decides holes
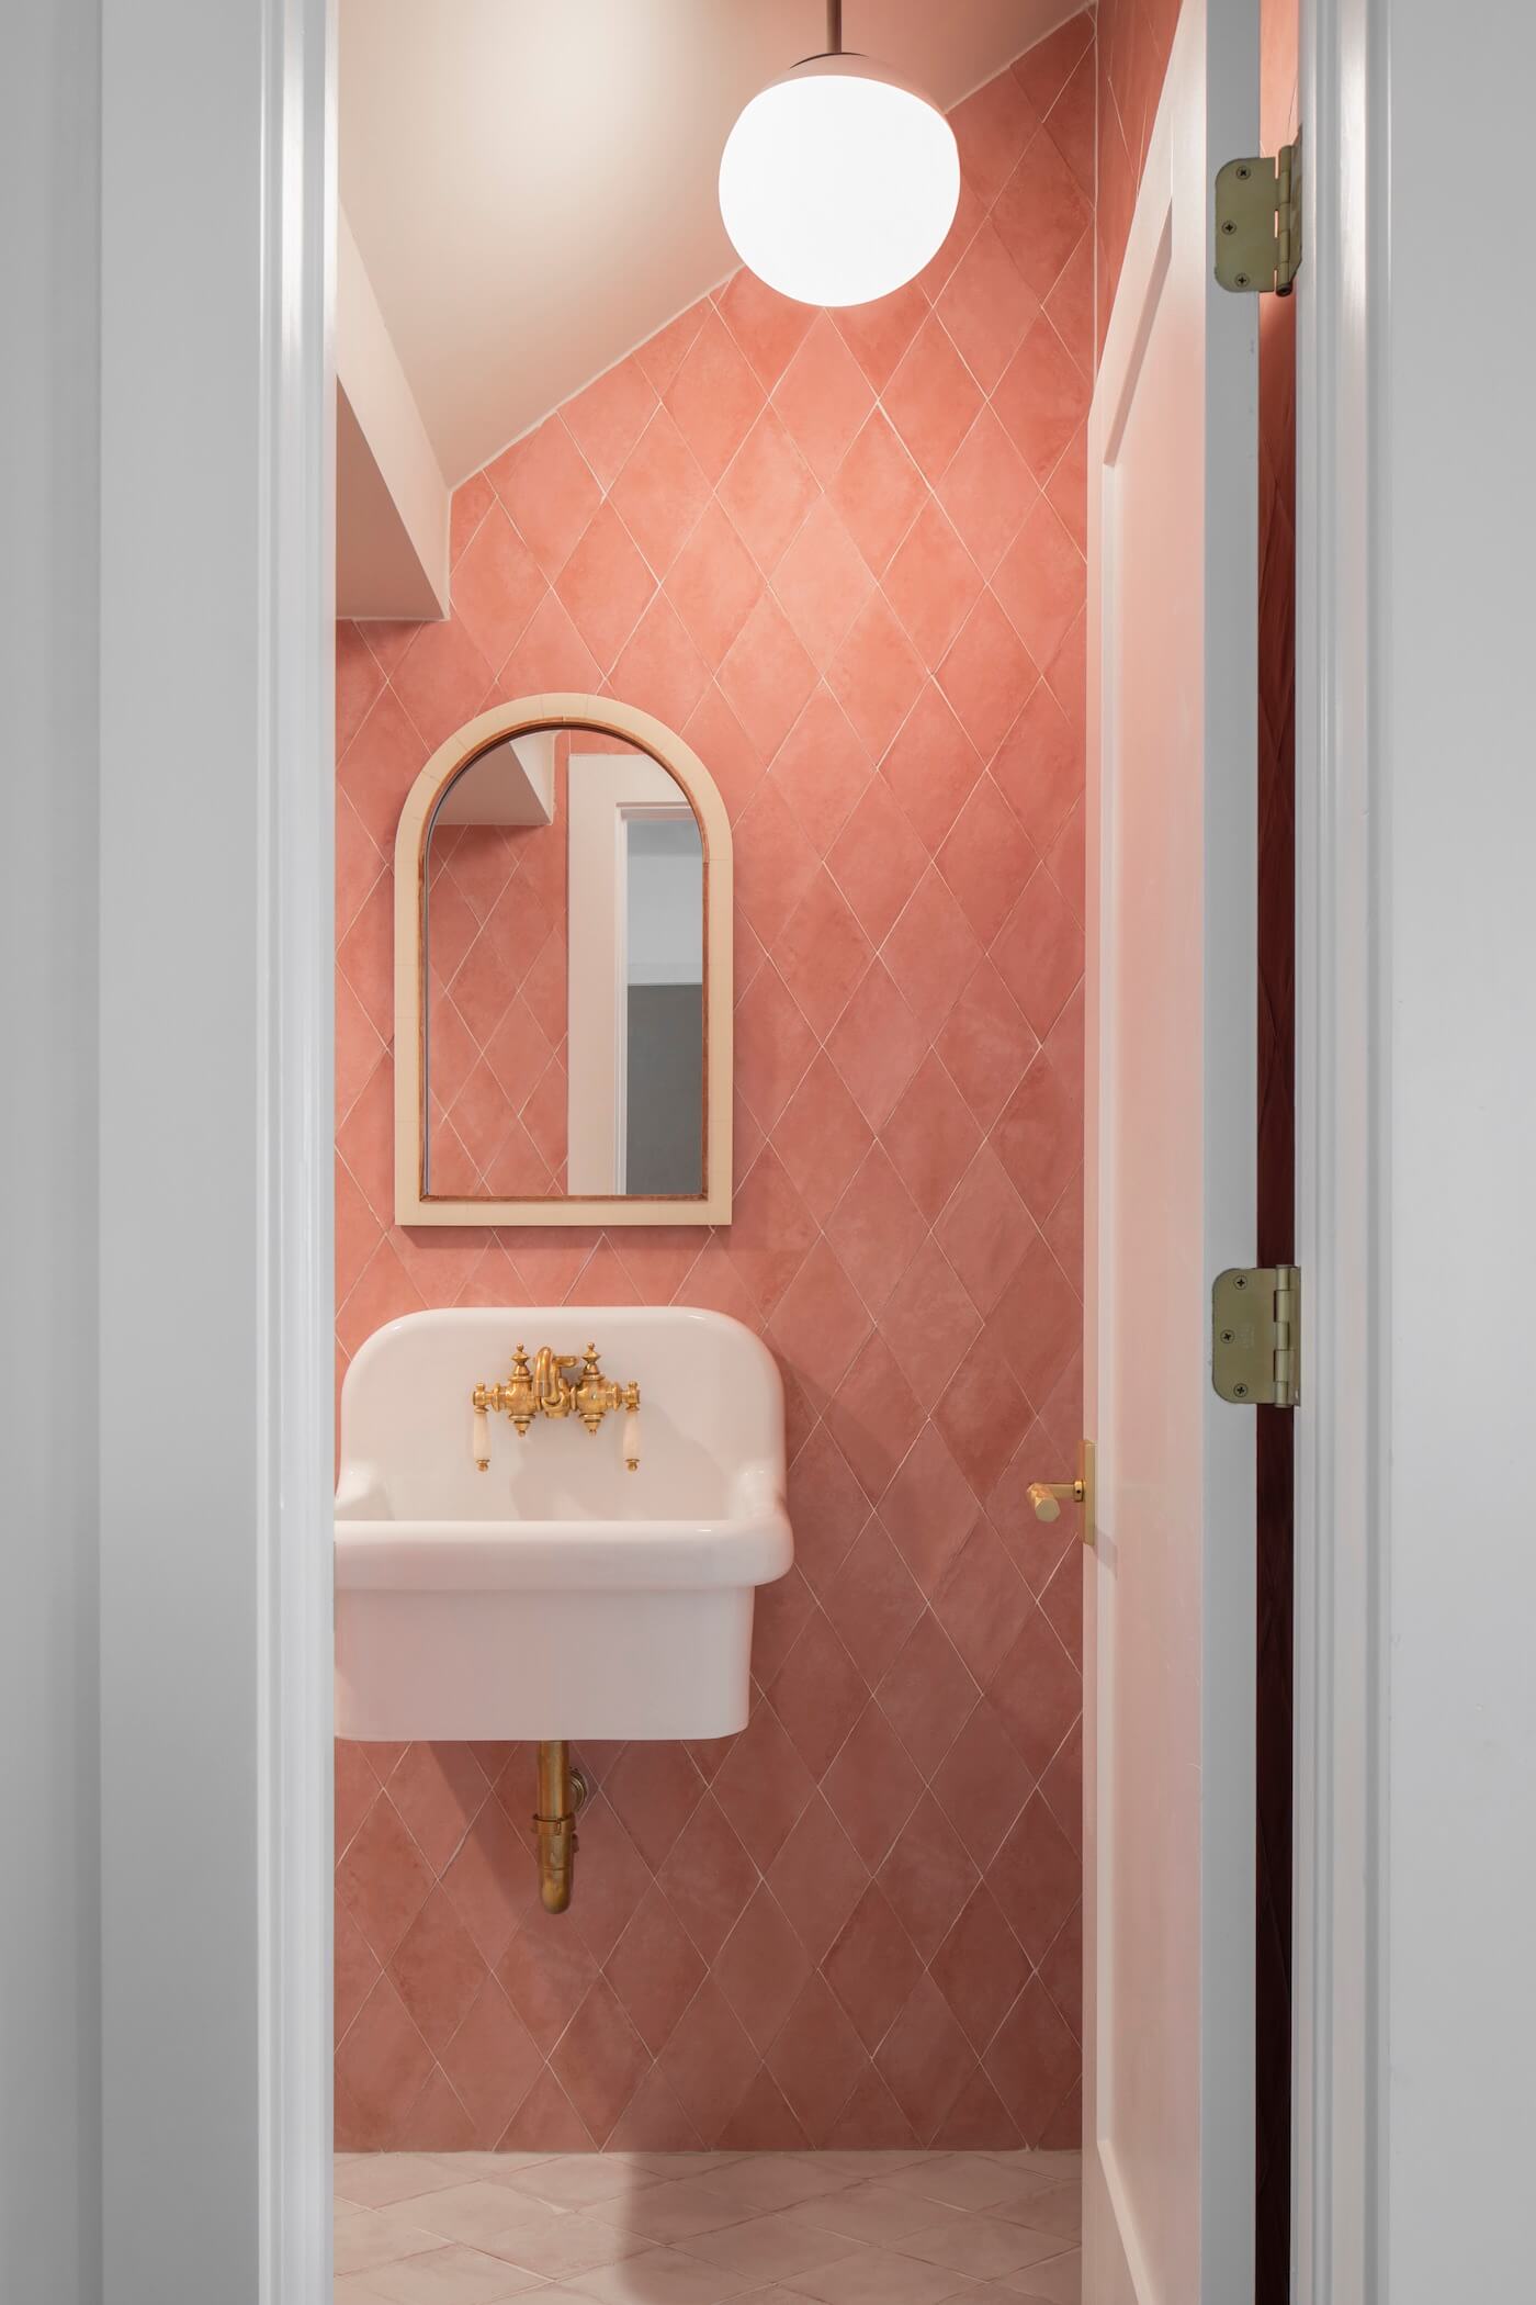
[[[956,104],[1080,0],[845,0]],[[716,168],[822,0],[343,0],[341,203],[458,484],[732,270]]]

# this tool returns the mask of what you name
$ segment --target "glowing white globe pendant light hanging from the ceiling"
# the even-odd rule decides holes
[[[721,154],[721,217],[758,279],[799,304],[868,304],[914,279],[960,201],[953,129],[868,55],[827,53],[753,97]]]

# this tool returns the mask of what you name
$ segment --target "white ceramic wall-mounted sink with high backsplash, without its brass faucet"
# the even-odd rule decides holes
[[[640,1385],[596,1434],[491,1418],[511,1351]],[[336,1733],[707,1738],[746,1724],[753,1593],[790,1567],[783,1390],[767,1346],[689,1307],[472,1307],[380,1328],[341,1388]]]

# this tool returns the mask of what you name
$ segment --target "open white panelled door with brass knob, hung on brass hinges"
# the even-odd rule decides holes
[[[1186,0],[1089,436],[1085,2305],[1253,2296],[1257,0]]]

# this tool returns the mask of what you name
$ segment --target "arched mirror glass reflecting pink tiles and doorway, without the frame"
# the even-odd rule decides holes
[[[424,860],[424,1187],[705,1189],[705,846],[686,791],[596,728],[504,738]]]

